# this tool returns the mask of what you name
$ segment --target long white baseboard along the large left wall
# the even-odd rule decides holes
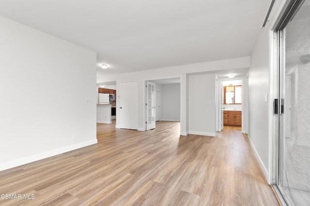
[[[13,160],[13,161],[10,161],[10,162],[3,162],[3,163],[0,163],[0,171],[6,170],[6,169],[10,169],[10,168],[13,168],[13,167],[17,167],[17,166],[20,166],[20,165],[23,165],[23,164],[27,164],[27,163],[30,163],[30,162],[35,162],[35,161],[38,161],[38,160],[42,160],[42,159],[45,159],[45,158],[48,158],[48,157],[59,155],[59,154],[62,154],[64,152],[72,151],[72,150],[75,150],[75,149],[78,149],[78,148],[82,148],[82,147],[86,147],[86,146],[90,146],[90,145],[93,145],[93,144],[97,144],[97,139],[93,139],[93,140],[90,140],[90,141],[87,141],[87,142],[78,143],[76,145],[71,145],[71,146],[68,146],[68,147],[62,147],[62,148],[54,149],[54,150],[51,150],[51,151],[43,152],[43,153],[32,155],[32,156],[29,156],[29,157],[20,158],[20,159]]]

